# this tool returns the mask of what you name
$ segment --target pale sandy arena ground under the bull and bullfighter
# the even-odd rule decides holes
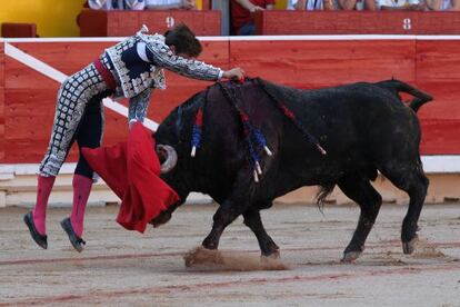
[[[354,264],[340,259],[356,206],[262,211],[281,254],[269,261],[242,219],[223,232],[220,251],[197,248],[213,205],[184,206],[143,235],[118,226],[117,210],[89,208],[78,254],[59,226],[70,209],[49,211],[48,250],[29,237],[27,209],[0,209],[0,305],[460,306],[460,204],[426,205],[410,256],[399,240],[407,207],[383,205]]]

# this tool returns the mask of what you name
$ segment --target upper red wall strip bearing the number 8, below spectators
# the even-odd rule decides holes
[[[460,34],[456,11],[282,11],[256,13],[256,32],[287,34]]]

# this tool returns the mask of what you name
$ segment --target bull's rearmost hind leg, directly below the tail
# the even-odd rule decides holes
[[[429,180],[424,176],[420,160],[413,167],[408,165],[392,165],[390,168],[382,169],[382,174],[394,186],[409,195],[410,201],[402,222],[401,242],[403,252],[412,254],[418,240],[418,221],[427,196]]]

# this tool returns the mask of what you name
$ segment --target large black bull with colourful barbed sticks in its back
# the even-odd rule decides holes
[[[409,107],[401,101],[401,91],[414,97]],[[266,232],[260,210],[303,186],[321,186],[319,199],[323,200],[337,185],[361,208],[343,256],[344,260],[353,260],[362,252],[382,204],[370,184],[380,171],[410,197],[401,230],[403,251],[410,254],[429,184],[420,160],[421,131],[416,112],[430,100],[430,96],[398,80],[318,90],[299,90],[261,79],[213,85],[174,109],[156,132],[157,143],[177,151],[176,167],[162,178],[176,189],[181,202],[151,224],[168,221],[189,192],[208,194],[220,207],[203,247],[217,249],[224,228],[242,215],[262,255],[277,256],[279,248]],[[327,155],[306,139],[277,101],[296,115]],[[202,145],[191,157],[190,139],[199,108],[203,110]],[[259,182],[254,181],[238,109],[263,131],[273,152],[270,157],[256,148],[263,170]]]

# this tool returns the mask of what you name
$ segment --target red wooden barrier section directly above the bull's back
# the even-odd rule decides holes
[[[392,77],[413,82],[414,57],[410,40],[230,42],[230,66],[239,65],[249,76],[298,88]]]

